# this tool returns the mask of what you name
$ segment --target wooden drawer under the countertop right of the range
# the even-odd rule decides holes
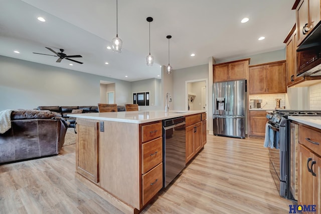
[[[299,142],[315,152],[318,155],[321,155],[321,133],[312,129],[309,129],[307,127],[299,126],[298,131],[298,138]],[[318,143],[319,145],[313,144],[309,142],[313,141],[315,143]]]

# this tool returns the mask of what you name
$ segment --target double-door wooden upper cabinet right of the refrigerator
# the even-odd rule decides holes
[[[249,93],[286,93],[285,65],[283,60],[250,66]]]

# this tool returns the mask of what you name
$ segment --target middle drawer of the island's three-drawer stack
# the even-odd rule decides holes
[[[163,138],[141,145],[141,173],[144,174],[163,161]]]

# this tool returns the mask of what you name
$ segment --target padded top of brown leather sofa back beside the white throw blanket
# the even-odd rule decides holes
[[[11,113],[11,120],[28,120],[28,119],[50,119],[61,116],[60,113],[48,110],[15,110]]]

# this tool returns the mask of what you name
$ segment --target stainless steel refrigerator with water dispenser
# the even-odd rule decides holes
[[[213,85],[214,135],[245,138],[246,80]]]

